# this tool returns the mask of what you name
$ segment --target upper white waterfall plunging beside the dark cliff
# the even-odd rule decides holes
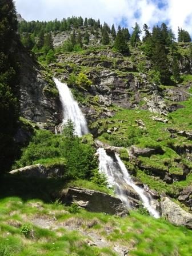
[[[55,85],[59,91],[63,107],[63,121],[62,126],[66,124],[68,119],[71,119],[75,125],[75,131],[79,137],[88,133],[86,119],[78,106],[78,102],[74,100],[73,94],[66,83],[60,82],[57,78],[53,78]]]

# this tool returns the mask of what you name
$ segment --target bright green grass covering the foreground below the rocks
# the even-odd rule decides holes
[[[129,255],[132,256],[190,256],[192,253],[192,231],[185,227],[175,227],[164,219],[147,217],[137,211],[118,218],[85,210],[71,214],[68,209],[39,199],[0,199],[1,255],[117,256],[113,250],[114,245],[129,249]],[[49,229],[45,229],[40,227],[41,224],[35,225],[37,219],[42,220],[42,223],[45,223],[43,220],[52,223],[52,227],[50,225]],[[27,225],[30,233],[25,237],[22,227]],[[94,239],[92,235],[89,237],[89,233],[104,239],[106,246],[88,246],[87,241]]]

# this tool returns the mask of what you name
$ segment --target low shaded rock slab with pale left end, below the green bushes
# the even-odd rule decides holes
[[[23,177],[31,178],[53,178],[53,177],[62,177],[65,171],[65,166],[63,165],[54,165],[51,167],[45,167],[40,165],[29,165],[22,167],[20,169],[15,169],[10,171],[10,174],[18,174]]]

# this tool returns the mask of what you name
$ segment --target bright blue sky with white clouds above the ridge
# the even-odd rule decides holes
[[[50,21],[74,16],[100,19],[109,25],[129,28],[138,22],[153,25],[165,22],[177,37],[178,27],[192,35],[192,0],[14,0],[17,12],[26,21]]]

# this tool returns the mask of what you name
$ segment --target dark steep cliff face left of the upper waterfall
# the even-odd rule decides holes
[[[19,50],[19,62],[21,73],[19,77],[20,86],[20,109],[22,117],[33,122],[52,123],[53,126],[61,122],[61,103],[59,94],[52,81],[43,76],[41,67],[33,61],[25,51]]]

